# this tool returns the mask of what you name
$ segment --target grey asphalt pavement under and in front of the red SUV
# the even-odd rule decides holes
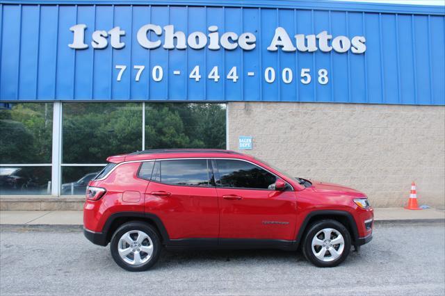
[[[80,229],[2,226],[0,295],[444,295],[443,222],[378,224],[337,268],[278,250],[163,251],[127,272]]]

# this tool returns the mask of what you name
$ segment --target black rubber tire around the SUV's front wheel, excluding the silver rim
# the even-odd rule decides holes
[[[316,234],[322,231],[323,229],[334,229],[338,231],[341,234],[341,236],[343,236],[344,240],[343,252],[338,258],[335,258],[332,261],[322,261],[321,259],[317,258],[314,252],[312,251],[312,240],[314,239]],[[333,236],[335,236],[335,233],[333,234]],[[318,238],[320,237],[323,237],[323,235],[318,234]],[[321,238],[321,240],[323,240],[323,238]],[[303,239],[302,252],[305,255],[307,261],[311,262],[312,264],[320,268],[333,268],[334,266],[337,266],[343,261],[345,261],[346,257],[348,257],[349,255],[350,246],[351,246],[350,233],[348,229],[346,229],[346,227],[343,226],[343,224],[335,220],[321,220],[309,226],[309,230],[306,232]],[[340,247],[339,245],[334,245],[334,248],[336,248],[335,250],[338,250],[339,247]],[[316,247],[314,247],[314,249],[315,248]],[[317,246],[317,248],[321,249],[322,247]],[[317,251],[317,249],[315,249],[315,251]],[[327,257],[329,256],[331,256],[330,253],[327,253]],[[331,259],[327,258],[327,260]]]

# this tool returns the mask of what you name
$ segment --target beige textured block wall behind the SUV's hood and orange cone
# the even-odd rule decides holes
[[[321,103],[229,103],[228,149],[295,176],[361,190],[375,207],[403,206],[411,182],[419,204],[445,208],[445,107]]]

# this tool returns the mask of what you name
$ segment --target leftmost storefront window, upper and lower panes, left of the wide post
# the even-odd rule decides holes
[[[0,110],[0,195],[51,194],[52,103]]]

